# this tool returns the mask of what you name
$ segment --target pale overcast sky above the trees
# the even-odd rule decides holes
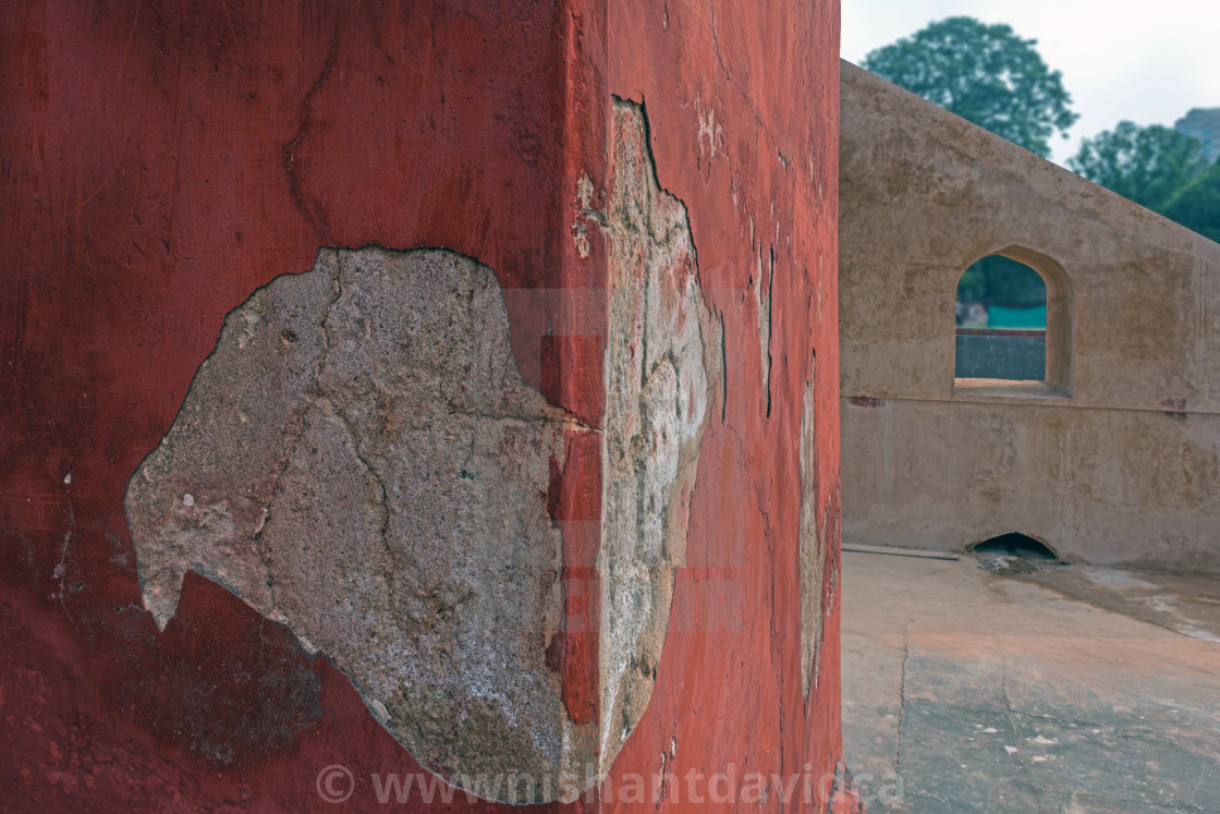
[[[1063,164],[1082,137],[1130,118],[1166,124],[1191,107],[1220,107],[1220,0],[842,0],[843,59],[955,15],[1008,23],[1063,72],[1080,121],[1052,139]]]

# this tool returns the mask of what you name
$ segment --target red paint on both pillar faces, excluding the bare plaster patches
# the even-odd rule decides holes
[[[660,183],[688,207],[727,399],[704,437],[653,701],[592,805],[630,808],[615,791],[628,773],[833,769],[837,597],[805,703],[797,528],[815,349],[837,561],[837,2],[772,0],[749,18],[699,0],[10,5],[0,803],[310,809],[325,805],[318,771],[342,764],[349,804],[376,808],[373,773],[418,770],[326,659],[203,577],[159,633],[123,492],[224,314],[320,245],[488,264],[521,289],[506,303],[526,378],[595,423],[587,337],[605,317],[576,292],[603,284],[605,245],[594,234],[580,261],[571,228],[576,178],[606,185],[611,93],[644,103]],[[769,415],[750,287],[772,251]],[[590,511],[597,454],[558,474],[561,517]],[[571,532],[566,565],[595,544]],[[573,711],[595,696],[595,647],[572,636],[556,661]]]

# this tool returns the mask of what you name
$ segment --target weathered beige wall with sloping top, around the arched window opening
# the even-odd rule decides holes
[[[1220,571],[1220,247],[848,63],[842,93],[847,537]],[[997,253],[1047,281],[1043,386],[954,380]]]

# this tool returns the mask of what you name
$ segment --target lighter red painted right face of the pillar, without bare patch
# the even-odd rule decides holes
[[[816,786],[839,754],[838,597],[826,598],[821,676],[805,703],[797,533],[816,353],[816,499],[834,506],[822,533],[837,575],[838,32],[838,2],[826,0],[610,4],[610,89],[644,103],[660,184],[687,205],[704,298],[723,320],[727,367],[658,683],[615,773],[660,771],[676,742],[666,770],[678,779],[732,768],[738,783],[800,773]],[[772,304],[770,404],[760,283]],[[725,593],[738,630],[700,630],[700,614],[725,616]]]

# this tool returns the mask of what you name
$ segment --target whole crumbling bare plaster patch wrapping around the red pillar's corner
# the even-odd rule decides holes
[[[600,721],[569,719],[545,657],[564,625],[551,466],[593,430],[522,380],[475,260],[323,249],[255,292],[126,500],[159,626],[183,576],[207,576],[333,659],[421,765],[466,788],[550,781],[508,802],[573,797],[647,707],[719,370],[643,110],[616,101],[612,126],[610,214],[589,220],[611,244]]]

